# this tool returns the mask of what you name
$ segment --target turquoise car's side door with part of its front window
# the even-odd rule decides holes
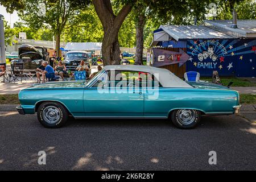
[[[113,76],[112,76],[113,74]],[[86,117],[142,117],[144,93],[141,88],[118,80],[115,73],[105,72],[84,92]],[[111,78],[114,77],[114,78]]]

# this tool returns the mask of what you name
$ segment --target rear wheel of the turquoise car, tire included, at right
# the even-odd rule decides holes
[[[200,118],[200,111],[193,109],[177,109],[171,113],[172,122],[180,129],[196,127],[200,122]]]

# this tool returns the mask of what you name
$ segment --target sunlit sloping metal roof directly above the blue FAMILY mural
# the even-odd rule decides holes
[[[161,25],[168,35],[175,40],[187,39],[233,39],[234,36],[226,35],[220,31],[213,30],[207,26],[177,26],[177,25]]]

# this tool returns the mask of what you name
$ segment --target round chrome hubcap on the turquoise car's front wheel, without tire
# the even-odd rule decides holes
[[[60,110],[55,106],[48,106],[43,110],[43,119],[49,124],[54,124],[60,120]]]

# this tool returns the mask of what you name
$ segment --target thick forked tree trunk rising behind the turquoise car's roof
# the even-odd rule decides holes
[[[119,11],[118,15],[114,15],[110,0],[93,0],[92,2],[104,29],[101,47],[103,64],[120,64],[118,32],[133,5],[127,3]]]

